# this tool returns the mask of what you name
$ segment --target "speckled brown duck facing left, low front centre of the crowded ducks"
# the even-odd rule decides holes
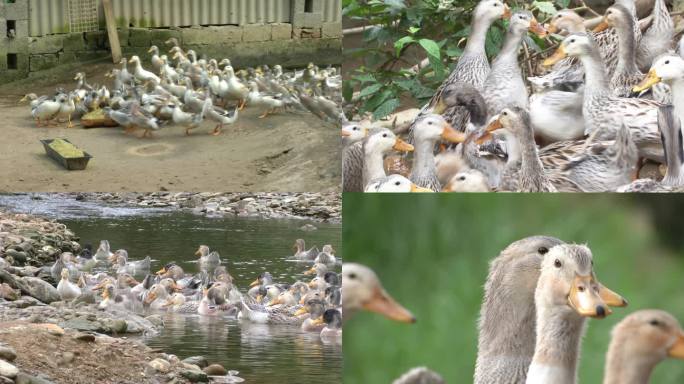
[[[501,184],[505,189],[518,192],[557,192],[547,177],[544,166],[539,160],[534,132],[529,114],[520,108],[504,108],[487,128],[489,131],[506,128],[517,140],[521,156],[520,165],[509,156]]]

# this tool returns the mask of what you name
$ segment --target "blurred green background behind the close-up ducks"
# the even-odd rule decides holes
[[[469,382],[489,261],[515,240],[548,235],[587,243],[599,280],[630,303],[589,321],[580,382],[599,383],[610,330],[624,316],[659,308],[684,322],[682,212],[677,194],[345,194],[345,261],[373,268],[418,321],[348,321],[344,381],[390,383],[425,365]],[[684,382],[684,361],[658,365],[653,382]]]

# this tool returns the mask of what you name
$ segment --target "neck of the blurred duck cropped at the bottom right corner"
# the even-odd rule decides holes
[[[603,384],[642,384],[650,381],[651,372],[660,361],[652,355],[634,356],[624,340],[613,339],[608,347]]]

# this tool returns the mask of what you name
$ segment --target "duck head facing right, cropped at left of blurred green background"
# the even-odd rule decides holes
[[[378,276],[369,267],[358,263],[342,264],[342,281],[342,311],[346,314],[345,321],[365,310],[398,322],[416,322],[413,314],[385,291]]]

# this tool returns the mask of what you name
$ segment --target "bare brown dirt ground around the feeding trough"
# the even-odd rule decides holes
[[[109,84],[109,64],[80,70],[88,82]],[[36,128],[28,92],[52,94],[75,88],[74,73],[25,80],[0,87],[0,191],[281,191],[318,192],[340,188],[339,131],[311,114],[286,113],[258,119],[247,107],[237,123],[210,136],[213,122],[190,137],[172,124],[152,139],[126,135],[121,128]],[[39,142],[67,138],[93,156],[85,171],[67,171]]]

